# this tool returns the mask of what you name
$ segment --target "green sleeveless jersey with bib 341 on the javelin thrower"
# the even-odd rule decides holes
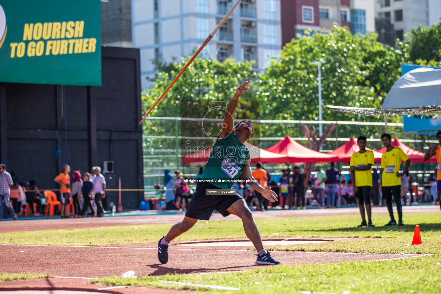
[[[232,189],[249,159],[247,147],[232,132],[214,144],[201,180],[220,189]]]

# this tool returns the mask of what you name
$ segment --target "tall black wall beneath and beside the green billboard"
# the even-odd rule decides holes
[[[139,49],[102,47],[102,86],[66,86],[67,146],[71,177],[113,160],[107,188],[143,188]],[[0,162],[20,179],[36,179],[40,190],[67,160],[63,86],[0,83]],[[137,208],[142,192],[123,192],[124,209]],[[108,191],[117,204],[118,192]],[[110,208],[110,207],[109,207]]]

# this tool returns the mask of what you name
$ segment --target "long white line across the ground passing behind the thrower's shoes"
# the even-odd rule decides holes
[[[26,245],[26,244],[0,244],[4,246],[37,246],[37,245]],[[74,245],[38,245],[46,247],[75,247],[75,248],[110,248],[110,249],[148,249],[157,250],[156,247],[111,247],[111,246],[74,246]],[[238,251],[238,252],[251,252],[250,250],[220,250],[220,249],[185,249],[185,248],[168,248],[168,250],[191,250],[191,251]],[[254,252],[254,251],[253,251]],[[309,251],[273,251],[277,253],[329,253],[329,254],[368,254],[368,255],[403,255],[402,253],[352,253],[352,252],[309,252]],[[407,254],[406,254],[407,255]],[[410,254],[409,254],[410,255]],[[418,256],[415,254],[415,256]]]

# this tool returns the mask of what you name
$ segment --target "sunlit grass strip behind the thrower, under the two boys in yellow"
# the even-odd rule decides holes
[[[297,246],[274,246],[269,249],[293,251],[328,251],[355,253],[440,253],[441,214],[407,213],[404,227],[383,227],[389,221],[385,214],[374,215],[378,227],[356,227],[360,216],[314,216],[289,219],[256,220],[264,237],[327,237],[375,238],[351,242],[327,242]],[[422,245],[411,244],[415,224],[419,224]],[[97,246],[157,242],[170,224],[99,227],[51,231],[13,232],[0,234],[2,244]],[[244,238],[240,220],[198,222],[176,241]]]

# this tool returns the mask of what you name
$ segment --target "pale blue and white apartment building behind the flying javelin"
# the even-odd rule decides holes
[[[235,2],[235,0],[234,0]],[[232,0],[131,0],[132,43],[141,49],[142,88],[156,74],[152,60],[170,62],[196,51],[233,5]],[[262,71],[281,49],[280,0],[242,0],[200,56],[255,60]]]

